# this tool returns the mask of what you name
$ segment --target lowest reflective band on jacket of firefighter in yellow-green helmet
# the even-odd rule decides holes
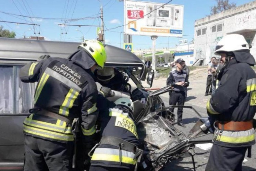
[[[34,134],[41,137],[46,137],[50,139],[56,139],[61,141],[74,141],[74,136],[71,134],[61,134],[57,132],[47,131],[32,126],[23,125],[23,131],[29,134]]]

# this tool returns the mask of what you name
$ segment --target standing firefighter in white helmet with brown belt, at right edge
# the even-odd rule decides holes
[[[249,154],[255,144],[256,74],[251,68],[255,60],[239,34],[224,36],[215,54],[225,66],[218,75],[219,87],[207,102],[215,133],[206,170],[241,171],[246,150]]]

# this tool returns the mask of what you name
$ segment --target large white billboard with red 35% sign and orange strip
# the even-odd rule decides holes
[[[182,37],[183,5],[125,0],[124,33]]]

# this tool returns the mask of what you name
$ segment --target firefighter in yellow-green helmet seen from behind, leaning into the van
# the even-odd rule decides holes
[[[25,171],[72,169],[76,118],[81,119],[83,136],[95,133],[98,90],[92,76],[103,68],[105,47],[87,40],[69,59],[48,57],[28,63],[20,72],[22,82],[38,82],[34,109],[24,120]]]

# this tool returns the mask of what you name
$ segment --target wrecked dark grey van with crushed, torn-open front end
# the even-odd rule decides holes
[[[0,170],[23,169],[23,121],[33,108],[36,83],[22,83],[20,68],[44,54],[67,58],[78,45],[77,42],[0,38]],[[195,144],[211,142],[209,138],[200,139],[209,134],[200,127],[203,120],[199,120],[188,135],[173,126],[175,115],[169,108],[176,106],[166,107],[159,96],[172,88],[147,91],[142,81],[151,87],[154,71],[148,70],[141,59],[118,47],[106,45],[105,48],[105,67],[119,70],[136,86],[127,83],[128,92],[113,91],[109,100],[130,97],[134,102],[134,119],[144,150],[142,170],[159,170],[174,159],[193,157]]]

